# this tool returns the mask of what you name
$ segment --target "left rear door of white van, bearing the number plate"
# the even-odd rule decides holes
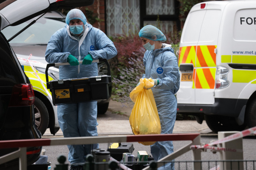
[[[194,11],[192,11],[194,9]],[[192,8],[186,18],[180,39],[180,89],[176,94],[177,102],[195,104],[196,46],[205,15],[199,4]]]

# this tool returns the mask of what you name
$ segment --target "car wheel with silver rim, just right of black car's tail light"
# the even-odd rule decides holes
[[[41,132],[42,136],[46,129],[48,128],[49,123],[49,114],[46,106],[39,98],[35,98],[35,123],[36,128]]]

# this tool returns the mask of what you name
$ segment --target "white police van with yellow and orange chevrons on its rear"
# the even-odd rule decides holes
[[[178,113],[213,132],[256,126],[256,1],[208,1],[186,18]]]

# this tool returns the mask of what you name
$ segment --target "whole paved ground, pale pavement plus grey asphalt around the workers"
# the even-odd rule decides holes
[[[109,105],[109,109],[106,114],[98,115],[97,121],[98,125],[98,134],[99,136],[111,136],[111,135],[131,135],[132,130],[129,123],[129,116],[132,110],[132,106],[130,107],[122,107],[122,105],[118,102],[111,101]],[[116,114],[116,113],[122,113]],[[205,121],[202,124],[198,124],[196,121],[180,121],[176,120],[173,133],[200,133],[201,134],[201,143],[207,144],[212,140],[218,140],[218,135],[214,134],[207,126]],[[51,138],[51,137],[63,137],[61,130],[57,132],[55,136],[50,134],[50,131],[47,130],[43,136],[43,138]],[[243,139],[243,148],[244,148],[244,160],[256,160],[255,157],[255,136],[245,137]],[[190,141],[173,141],[174,151],[177,151],[184,145],[190,143]],[[133,143],[135,150],[133,154],[137,156],[137,151],[147,151],[150,153],[150,147],[144,146],[137,142]],[[100,144],[100,148],[106,150],[108,144]],[[54,169],[55,165],[58,164],[57,157],[60,154],[68,155],[68,148],[66,145],[60,146],[44,146],[43,149],[46,150],[46,155],[48,155],[48,161],[52,162],[52,169]],[[212,154],[211,152],[202,152],[202,160],[218,160],[219,154]],[[182,156],[175,159],[175,161],[190,161],[192,160],[192,151],[189,151]],[[66,163],[69,164],[68,161]],[[186,169],[187,165],[178,165],[175,164],[175,169]],[[191,165],[188,165],[191,167]],[[256,165],[255,165],[256,166]],[[188,169],[190,169],[188,167]],[[211,166],[212,167],[212,166]],[[209,168],[206,168],[209,169]]]

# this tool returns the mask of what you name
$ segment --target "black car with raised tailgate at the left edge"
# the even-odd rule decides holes
[[[6,0],[0,4],[0,140],[40,139],[34,117],[35,95],[9,40],[1,32],[40,14],[58,8],[72,9],[93,4],[94,0]],[[14,33],[15,34],[15,33]],[[12,38],[11,38],[12,39]],[[27,148],[27,165],[39,159],[42,146]],[[18,148],[0,149],[0,157]],[[0,170],[19,169],[19,159],[5,162]]]

